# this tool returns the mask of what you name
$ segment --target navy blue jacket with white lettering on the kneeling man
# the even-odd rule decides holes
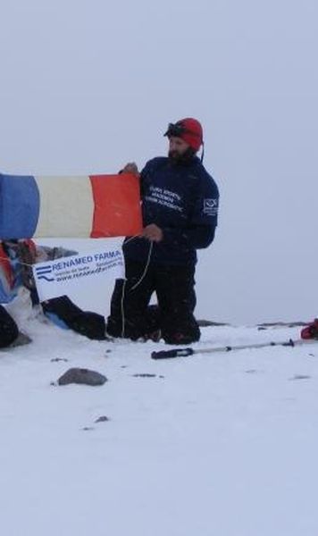
[[[183,163],[157,157],[146,163],[140,180],[143,224],[155,223],[163,230],[151,262],[195,264],[196,249],[211,244],[217,225],[219,190],[213,178],[197,156]],[[131,239],[123,251],[145,262],[149,247],[147,239]]]

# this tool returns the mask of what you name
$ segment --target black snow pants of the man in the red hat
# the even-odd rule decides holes
[[[200,339],[193,311],[196,306],[195,266],[145,264],[126,259],[126,280],[113,289],[107,334],[133,340],[147,339],[161,330],[168,344]],[[149,306],[155,292],[158,307]]]

